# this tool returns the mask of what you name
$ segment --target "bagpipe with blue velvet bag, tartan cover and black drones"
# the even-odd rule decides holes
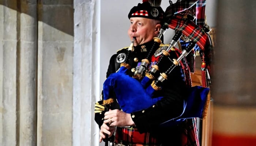
[[[185,2],[183,1],[183,3]],[[198,0],[188,2],[184,9],[179,10],[179,13],[191,8],[197,2]],[[177,5],[178,4],[176,4],[176,6]],[[128,75],[127,72],[130,69],[130,65],[128,64],[129,61],[125,59],[125,61],[121,63],[118,71],[110,74],[110,76],[106,78],[105,82],[103,83],[103,104],[106,107],[117,100],[120,108],[124,112],[132,113],[135,111],[144,110],[156,104],[157,101],[161,100],[163,97],[160,96],[153,98],[154,92],[161,90],[163,82],[167,80],[172,70],[176,66],[180,65],[182,59],[185,59],[185,57],[191,53],[196,45],[200,48],[201,58],[205,56],[205,49],[209,48],[209,45],[211,45],[208,35],[210,27],[208,27],[206,24],[203,27],[199,27],[195,22],[193,22],[195,16],[189,14],[180,15],[179,13],[173,12],[174,9],[175,5],[170,3],[170,6],[166,9],[165,21],[162,24],[159,35],[158,37],[154,38],[154,45],[150,49],[146,58],[142,59],[142,63],[136,70],[134,76],[131,77]],[[168,28],[175,30],[176,33],[170,41],[169,47],[163,50],[157,64],[151,66],[151,69],[149,70],[149,60],[154,53],[152,50],[159,47],[161,43],[160,38]],[[185,49],[180,51],[180,56],[177,59],[171,60],[169,58],[169,52],[170,50],[173,50],[173,47],[176,45],[182,34],[191,39],[191,41],[185,47]],[[128,48],[127,58],[129,58],[129,55],[133,53],[133,43],[134,39]],[[170,62],[165,62],[166,60],[169,60]],[[161,69],[159,69],[159,65],[166,63],[170,63],[170,67],[165,70],[165,72],[160,73]],[[203,63],[205,65],[204,68],[207,68],[208,62]],[[189,94],[182,114],[177,118],[170,119],[169,121],[162,123],[162,126],[177,124],[178,122],[187,118],[197,117],[203,119],[206,117],[206,111],[210,101],[210,88],[201,86],[189,87],[187,92],[189,92]]]

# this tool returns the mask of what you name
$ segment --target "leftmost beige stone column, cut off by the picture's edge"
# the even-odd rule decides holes
[[[8,5],[8,7],[6,7]],[[0,145],[16,146],[19,118],[16,90],[17,3],[0,1]],[[14,31],[15,30],[15,31]]]

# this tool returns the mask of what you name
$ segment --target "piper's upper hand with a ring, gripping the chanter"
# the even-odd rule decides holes
[[[134,122],[130,114],[127,114],[121,110],[109,110],[105,112],[104,123],[110,123],[109,126],[134,126]]]

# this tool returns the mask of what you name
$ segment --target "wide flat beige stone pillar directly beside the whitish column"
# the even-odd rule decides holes
[[[72,145],[73,0],[38,1],[37,146]]]

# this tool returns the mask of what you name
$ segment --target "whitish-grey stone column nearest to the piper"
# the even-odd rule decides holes
[[[74,0],[73,145],[98,146],[94,104],[99,100],[100,1]]]

